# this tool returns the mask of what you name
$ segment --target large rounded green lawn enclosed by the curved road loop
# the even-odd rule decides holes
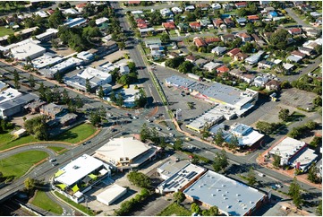
[[[47,152],[29,151],[14,154],[8,158],[4,158],[0,164],[0,171],[7,176],[20,178],[35,163],[42,161],[48,157]]]

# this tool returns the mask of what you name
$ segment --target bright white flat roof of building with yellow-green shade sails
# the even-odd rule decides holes
[[[83,154],[81,157],[61,168],[60,170],[64,171],[64,173],[55,178],[55,181],[71,186],[101,166],[103,166],[102,161],[99,161],[88,154]]]

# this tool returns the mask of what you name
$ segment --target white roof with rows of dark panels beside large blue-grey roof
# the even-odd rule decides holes
[[[177,192],[189,184],[194,178],[204,173],[205,170],[205,168],[190,163],[176,172],[171,178],[162,182],[157,188],[161,188],[163,192]]]

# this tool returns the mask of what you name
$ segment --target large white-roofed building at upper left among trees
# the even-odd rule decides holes
[[[42,56],[43,54],[45,54],[45,52],[46,48],[38,46],[38,41],[32,40],[30,40],[27,43],[18,45],[14,48],[11,48],[13,58],[21,61],[26,60],[28,56],[30,57],[30,59],[37,58],[38,56]]]

